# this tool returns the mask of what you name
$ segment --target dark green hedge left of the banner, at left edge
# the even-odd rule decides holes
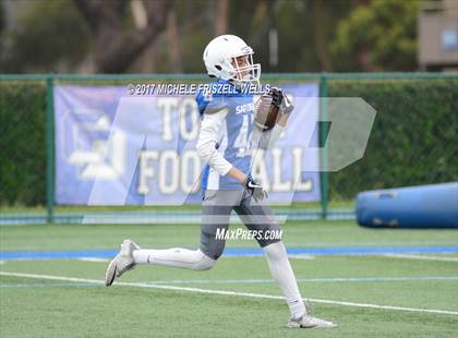
[[[0,205],[46,202],[46,84],[0,82]]]

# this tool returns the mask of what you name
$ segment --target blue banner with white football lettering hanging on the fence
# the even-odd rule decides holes
[[[288,84],[296,109],[274,147],[253,160],[269,203],[320,201],[318,88]],[[201,203],[193,96],[130,95],[125,86],[55,86],[57,204]]]

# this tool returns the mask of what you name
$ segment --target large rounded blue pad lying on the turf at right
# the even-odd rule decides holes
[[[365,227],[458,228],[458,182],[362,192],[355,208]]]

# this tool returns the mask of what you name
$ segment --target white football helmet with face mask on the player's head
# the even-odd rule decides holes
[[[246,82],[258,84],[261,64],[253,63],[253,49],[240,37],[220,35],[209,41],[205,48],[204,62],[212,77],[233,80],[239,84]]]

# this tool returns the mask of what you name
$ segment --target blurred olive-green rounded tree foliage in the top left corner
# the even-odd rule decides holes
[[[14,25],[4,26],[0,40],[0,72],[68,72],[81,64],[91,47],[71,0],[23,3]],[[3,9],[5,3],[0,2]]]

